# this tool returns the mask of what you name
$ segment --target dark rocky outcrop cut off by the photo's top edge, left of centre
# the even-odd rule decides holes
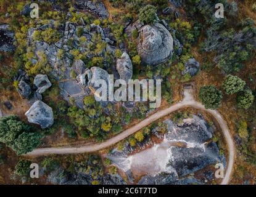
[[[76,0],[75,5],[78,9],[88,10],[89,12],[99,15],[100,18],[109,18],[109,12],[101,1]]]

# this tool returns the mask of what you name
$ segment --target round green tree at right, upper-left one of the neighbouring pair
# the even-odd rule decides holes
[[[226,94],[234,94],[241,91],[246,86],[246,82],[243,81],[238,76],[233,76],[228,74],[225,81],[222,84],[222,88],[225,90]]]

